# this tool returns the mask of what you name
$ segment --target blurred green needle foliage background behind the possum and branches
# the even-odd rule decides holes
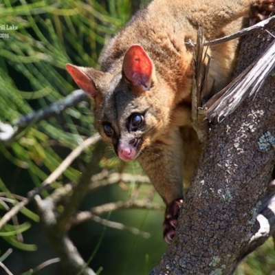
[[[21,115],[47,107],[77,89],[65,72],[65,64],[97,67],[104,44],[145,4],[146,1],[130,0],[0,1],[0,121],[12,124]],[[6,25],[17,30],[1,28]],[[10,201],[20,201],[15,195],[26,197],[83,138],[96,133],[90,108],[90,102],[80,102],[61,115],[29,125],[12,142],[0,143],[1,217],[12,207]],[[142,173],[137,163],[126,166],[109,148],[105,153],[105,169]],[[90,157],[89,150],[80,155],[58,178],[55,188],[76,181]],[[145,197],[152,188],[134,181],[100,188],[87,195],[80,210],[126,200],[136,192]],[[43,193],[43,197],[47,195]],[[153,201],[163,206],[158,195],[153,194]],[[149,232],[150,237],[87,221],[70,231],[85,261],[94,254],[90,267],[98,274],[148,274],[166,250],[162,240],[163,212],[118,210],[102,217]],[[10,248],[12,252],[5,254]],[[32,274],[28,271],[56,258],[39,225],[34,204],[2,228],[0,252],[0,261],[14,275]],[[236,274],[271,275],[274,270],[275,254],[270,240],[248,256]],[[64,274],[59,263],[35,273]],[[0,267],[0,274],[7,273]]]

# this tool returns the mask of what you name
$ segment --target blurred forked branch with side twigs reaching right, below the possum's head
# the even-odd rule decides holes
[[[93,184],[90,184],[91,179],[94,181],[94,189],[100,186],[100,179],[107,181],[107,184],[112,184],[114,179],[117,182],[122,178],[126,180],[133,179],[133,177],[128,174],[118,176],[118,173],[113,173],[111,175],[109,173],[98,173],[98,171],[101,170],[98,165],[101,159],[101,151],[102,147],[100,144],[97,144],[96,148],[94,148],[91,162],[76,186],[67,184],[63,188],[58,188],[52,193],[52,195],[43,200],[39,195],[34,197],[36,205],[39,208],[41,223],[43,224],[43,229],[45,230],[47,239],[50,241],[52,248],[54,248],[58,257],[60,257],[61,264],[63,265],[64,270],[66,270],[66,274],[69,275],[78,274],[80,271],[83,272],[81,274],[95,275],[94,271],[87,267],[85,261],[83,261],[78,250],[74,246],[74,243],[72,243],[69,236],[67,236],[72,225],[76,225],[87,219],[93,219],[94,221],[109,227],[129,230],[133,234],[140,234],[145,238],[148,238],[149,234],[146,232],[122,225],[121,223],[107,221],[106,219],[98,217],[98,214],[109,212],[110,210],[125,208],[160,209],[159,206],[154,203],[149,203],[148,201],[118,201],[117,203],[107,203],[103,206],[97,206],[93,208],[91,212],[80,212],[74,217],[78,206],[82,203],[88,190],[93,189],[89,188],[89,186],[93,186]],[[139,179],[140,181],[148,181],[147,177],[139,177]],[[106,183],[104,185],[106,185]],[[70,194],[70,196],[67,196],[68,194]],[[65,196],[64,212],[58,214],[56,206],[61,203],[61,200]]]

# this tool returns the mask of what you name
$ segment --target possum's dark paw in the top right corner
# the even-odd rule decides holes
[[[259,5],[255,5],[250,10],[250,25],[263,21],[275,12],[275,0],[261,0]]]

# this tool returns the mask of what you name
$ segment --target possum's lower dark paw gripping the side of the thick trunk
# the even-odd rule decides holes
[[[175,235],[175,227],[177,226],[177,218],[179,217],[179,208],[183,203],[182,199],[175,199],[172,201],[165,212],[164,217],[164,240],[166,243],[170,243]]]

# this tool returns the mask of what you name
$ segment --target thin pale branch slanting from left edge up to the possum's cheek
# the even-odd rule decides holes
[[[92,137],[87,138],[87,140],[85,140],[82,144],[80,144],[78,147],[76,147],[74,149],[74,151],[72,151],[72,153],[70,153],[63,160],[61,165],[58,166],[58,168],[56,168],[56,170],[54,170],[54,172],[49,177],[47,177],[47,179],[45,179],[45,181],[43,181],[43,183],[41,184],[41,186],[39,188],[32,190],[29,193],[27,198],[23,199],[20,203],[18,203],[16,206],[14,206],[9,212],[7,212],[3,215],[3,217],[0,220],[0,229],[3,227],[3,225],[5,225],[5,223],[10,221],[10,219],[12,217],[14,217],[23,207],[25,207],[28,203],[30,203],[30,201],[32,201],[36,195],[39,195],[43,190],[45,190],[48,186],[50,186],[50,184],[52,184],[52,182],[56,181],[56,179],[60,175],[62,175],[62,173],[69,167],[69,165],[72,164],[74,159],[76,159],[76,157],[78,157],[78,155],[80,155],[80,153],[87,146],[95,144],[96,142],[98,142],[98,140],[100,140],[100,135],[96,134]]]

